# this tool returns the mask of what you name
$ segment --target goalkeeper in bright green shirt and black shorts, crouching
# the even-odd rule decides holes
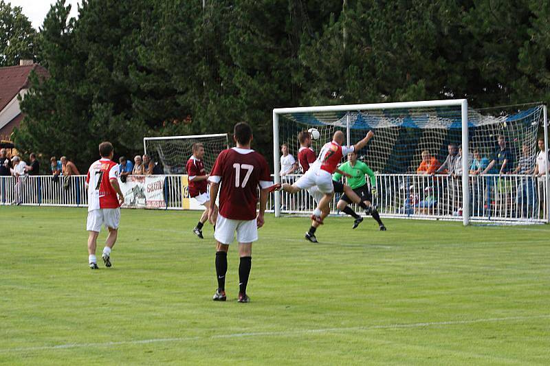
[[[351,189],[353,189],[353,192],[361,197],[361,201],[368,207],[365,214],[371,214],[376,222],[378,222],[378,225],[380,225],[380,230],[386,231],[386,227],[384,226],[382,220],[380,220],[380,215],[378,214],[376,207],[372,204],[373,195],[377,194],[376,176],[371,168],[369,168],[369,165],[366,165],[362,161],[358,161],[357,152],[353,151],[348,154],[348,161],[340,165],[338,169],[351,175],[351,177],[347,178],[347,184],[351,187]],[[373,187],[372,194],[369,190],[369,185],[366,184],[365,174],[369,175],[371,179],[371,185]],[[333,181],[340,181],[341,178],[342,174],[340,173],[334,173],[332,176]],[[351,207],[348,207],[350,203],[352,203],[351,199],[344,193],[340,196],[340,201],[338,201],[336,208],[355,218],[355,221],[353,222],[353,229],[355,229],[363,221],[363,218],[358,214],[355,214],[355,211],[353,211]]]

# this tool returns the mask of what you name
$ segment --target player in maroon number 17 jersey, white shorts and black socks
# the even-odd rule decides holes
[[[239,242],[239,302],[248,302],[246,286],[252,267],[252,242],[258,240],[258,228],[263,226],[263,214],[267,205],[268,188],[272,186],[270,168],[265,158],[250,149],[252,128],[245,122],[235,125],[233,139],[235,148],[223,150],[210,173],[210,214],[208,219],[216,231],[216,275],[218,288],[214,301],[225,301],[225,273],[228,269],[228,249]],[[219,214],[214,221],[214,203],[219,196]],[[260,210],[256,216],[260,187]]]

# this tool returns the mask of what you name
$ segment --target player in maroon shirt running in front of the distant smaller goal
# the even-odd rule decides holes
[[[202,162],[202,158],[204,157],[203,144],[195,142],[195,144],[192,144],[191,150],[193,155],[191,155],[185,165],[189,183],[189,196],[195,198],[198,203],[205,207],[199,222],[197,222],[197,226],[193,229],[193,233],[203,239],[202,227],[204,222],[208,220],[208,213],[210,212],[210,193],[208,192],[208,177],[210,174],[206,174]],[[214,222],[216,220],[217,211],[218,207],[214,203]]]

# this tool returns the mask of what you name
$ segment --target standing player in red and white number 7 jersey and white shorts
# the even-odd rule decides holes
[[[118,236],[120,222],[120,206],[124,203],[124,195],[118,185],[118,164],[112,161],[113,145],[105,141],[99,145],[101,159],[91,164],[86,176],[88,190],[88,220],[86,228],[88,236],[88,262],[91,269],[97,269],[96,247],[101,225],[109,230],[102,259],[106,267],[111,266],[111,249]],[[118,194],[118,198],[117,198]]]

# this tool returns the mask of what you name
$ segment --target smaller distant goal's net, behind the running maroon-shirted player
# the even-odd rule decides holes
[[[219,153],[228,148],[226,133],[214,135],[144,137],[145,154],[161,165],[164,174],[187,174],[186,163],[192,155],[192,144],[200,142],[204,146],[203,164],[207,172],[212,170]]]

